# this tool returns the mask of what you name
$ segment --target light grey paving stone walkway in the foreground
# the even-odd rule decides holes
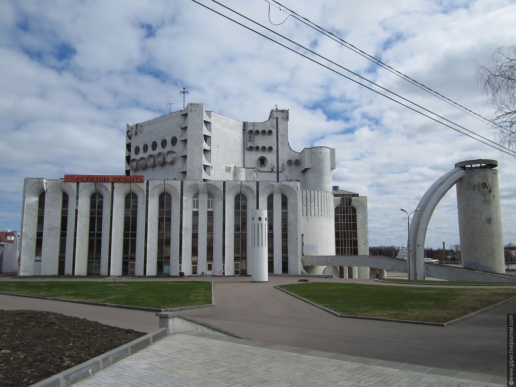
[[[353,358],[233,337],[173,334],[74,387],[467,387],[505,385],[499,376]]]

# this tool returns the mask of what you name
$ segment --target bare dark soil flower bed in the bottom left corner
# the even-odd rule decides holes
[[[34,384],[144,334],[58,313],[0,310],[0,386]]]

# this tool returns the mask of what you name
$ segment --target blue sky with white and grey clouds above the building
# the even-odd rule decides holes
[[[292,149],[335,148],[334,185],[368,198],[371,246],[404,245],[400,207],[455,163],[496,159],[504,243],[516,243],[516,158],[348,71],[496,141],[485,124],[307,25],[488,116],[475,69],[516,44],[515,1],[281,0],[297,19],[269,1],[198,0],[261,35],[192,0],[0,2],[0,230],[20,229],[24,178],[123,174],[125,124],[180,110],[186,87],[187,102],[241,121],[289,109]],[[443,241],[459,243],[455,188],[426,245]]]

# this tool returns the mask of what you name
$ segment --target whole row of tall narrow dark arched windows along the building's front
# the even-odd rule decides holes
[[[199,270],[212,271],[213,267],[213,238],[214,238],[214,211],[213,196],[207,194],[206,212],[206,268]],[[90,197],[89,228],[88,228],[88,255],[87,274],[100,275],[102,255],[102,224],[104,198],[101,193],[95,192]],[[273,225],[273,195],[267,199],[268,207],[268,244],[269,244],[269,272],[273,272],[274,261],[274,225]],[[43,223],[45,209],[45,192],[41,193],[38,202],[36,257],[40,257],[43,246]],[[138,197],[135,193],[128,193],[124,204],[124,227],[122,246],[122,275],[134,275],[136,262],[136,238],[138,220]],[[62,194],[61,229],[59,235],[58,274],[65,274],[66,241],[68,231],[69,197]],[[191,261],[192,275],[198,274],[199,255],[199,194],[192,199],[192,233],[191,233]],[[247,198],[239,194],[234,201],[234,273],[247,274]],[[170,251],[172,228],[172,197],[169,193],[162,193],[158,199],[157,217],[157,253],[156,274],[170,275]],[[282,272],[288,272],[288,212],[287,199],[281,195],[281,266]],[[38,258],[36,258],[38,260]],[[41,258],[40,258],[41,260]]]

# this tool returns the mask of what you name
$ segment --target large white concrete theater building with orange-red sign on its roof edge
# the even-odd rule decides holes
[[[268,273],[358,276],[301,264],[368,254],[367,200],[332,187],[334,149],[289,147],[288,116],[243,122],[190,103],[127,125],[125,175],[25,179],[20,275],[252,275],[263,210]]]

